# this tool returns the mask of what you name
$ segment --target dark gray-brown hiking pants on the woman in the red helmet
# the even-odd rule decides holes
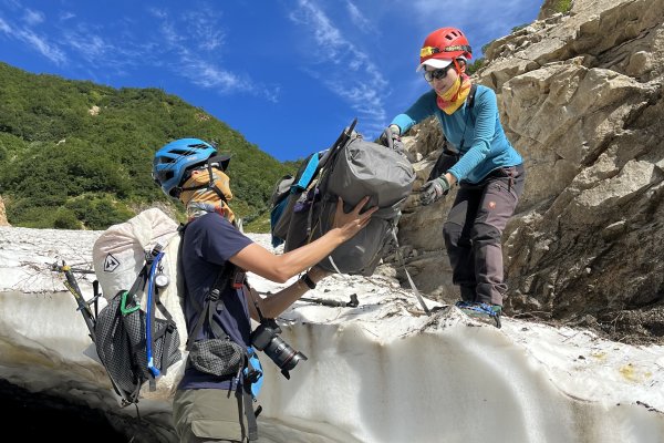
[[[518,165],[496,169],[478,184],[460,182],[443,236],[461,300],[502,306],[501,237],[525,178],[523,165]]]

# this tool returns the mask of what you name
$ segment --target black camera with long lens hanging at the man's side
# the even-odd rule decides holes
[[[307,357],[291,348],[281,337],[281,328],[274,319],[262,319],[258,328],[251,332],[251,344],[259,351],[263,351],[274,364],[281,369],[281,373],[290,379],[288,371],[293,369],[300,360]]]

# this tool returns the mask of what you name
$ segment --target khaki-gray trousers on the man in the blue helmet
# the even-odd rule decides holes
[[[249,441],[241,392],[178,390],[173,399],[173,422],[180,443]]]

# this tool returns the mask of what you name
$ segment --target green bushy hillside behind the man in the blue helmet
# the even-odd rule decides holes
[[[151,175],[154,152],[180,137],[232,154],[230,205],[247,231],[269,227],[268,200],[290,164],[158,89],[113,89],[0,63],[0,195],[9,223],[105,229],[153,204],[183,208]],[[253,227],[261,230],[253,230]]]

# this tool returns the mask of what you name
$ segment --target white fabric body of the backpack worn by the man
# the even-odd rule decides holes
[[[95,241],[92,248],[92,260],[96,279],[106,300],[111,300],[120,291],[129,290],[145,264],[145,255],[157,243],[164,246],[164,256],[159,264],[169,284],[159,290],[159,300],[166,307],[179,332],[179,349],[183,359],[168,368],[166,375],[157,379],[156,391],[143,385],[141,396],[144,399],[165,399],[175,394],[177,383],[185,370],[187,352],[187,327],[178,299],[177,254],[180,236],[178,224],[158,208],[149,208],[125,223],[111,226]],[[141,308],[145,310],[147,293],[138,291]],[[155,309],[157,318],[164,318],[159,309]]]

